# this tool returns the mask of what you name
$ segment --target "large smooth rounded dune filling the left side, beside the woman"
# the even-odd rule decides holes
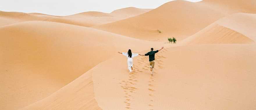
[[[48,21],[3,26],[0,35],[1,109],[49,96],[117,51],[159,44]]]

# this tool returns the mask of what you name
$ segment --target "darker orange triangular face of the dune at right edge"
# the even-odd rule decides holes
[[[211,24],[200,32],[185,39],[187,44],[211,44],[211,43],[254,43],[254,41],[241,33],[216,23]]]

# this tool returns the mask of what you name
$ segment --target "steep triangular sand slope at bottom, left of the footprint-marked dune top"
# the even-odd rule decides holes
[[[23,109],[100,109],[94,99],[92,74],[83,74],[47,98]]]

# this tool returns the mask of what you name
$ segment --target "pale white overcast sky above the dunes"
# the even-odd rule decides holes
[[[2,0],[0,10],[64,16],[88,11],[110,13],[126,7],[157,8],[169,1],[173,0]],[[198,2],[202,0],[187,1]]]

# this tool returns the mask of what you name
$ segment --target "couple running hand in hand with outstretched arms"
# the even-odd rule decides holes
[[[163,49],[163,47],[161,49]],[[134,58],[135,56],[138,56],[138,55],[149,56],[150,71],[152,71],[151,75],[153,75],[154,74],[154,65],[155,65],[155,62],[154,62],[154,60],[155,60],[155,53],[159,52],[161,49],[153,51],[154,49],[151,48],[151,51],[147,52],[146,54],[134,54],[134,53],[131,53],[131,49],[129,49],[127,53],[121,53],[121,52],[118,52],[118,53],[123,54],[123,55],[125,55],[127,57],[128,69],[129,69],[130,72],[133,69],[132,68],[132,64],[133,64],[132,58]]]

